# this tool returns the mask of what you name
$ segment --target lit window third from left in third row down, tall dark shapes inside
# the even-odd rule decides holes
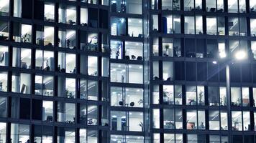
[[[35,69],[54,71],[54,62],[53,51],[39,49],[35,51]]]

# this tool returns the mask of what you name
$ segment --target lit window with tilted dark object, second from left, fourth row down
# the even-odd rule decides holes
[[[24,73],[12,73],[12,92],[30,94],[31,75]]]

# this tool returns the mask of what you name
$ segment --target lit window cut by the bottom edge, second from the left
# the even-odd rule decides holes
[[[12,142],[26,143],[29,142],[29,124],[11,124]]]

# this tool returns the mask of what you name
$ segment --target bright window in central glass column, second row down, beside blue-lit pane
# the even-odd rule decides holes
[[[128,18],[128,36],[142,38],[142,19]]]

